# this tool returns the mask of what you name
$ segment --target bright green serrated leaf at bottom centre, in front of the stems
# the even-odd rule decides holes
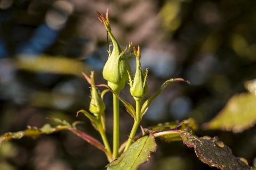
[[[119,158],[107,165],[108,170],[135,170],[145,163],[151,152],[156,151],[153,135],[148,135],[134,142]]]

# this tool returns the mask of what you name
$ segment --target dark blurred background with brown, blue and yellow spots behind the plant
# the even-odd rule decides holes
[[[208,122],[244,82],[256,77],[256,1],[250,0],[1,0],[0,1],[0,133],[41,127],[46,116],[69,122],[100,139],[79,109],[88,109],[89,84],[81,72],[101,71],[108,41],[95,11],[109,8],[110,24],[123,47],[142,48],[143,69],[149,68],[149,94],[169,78],[173,84],[150,106],[143,127],[195,118]],[[134,61],[131,61],[134,67]],[[126,87],[127,88],[127,87]],[[126,97],[129,89],[121,94]],[[111,140],[112,99],[106,95],[107,134]],[[132,118],[121,105],[121,141]],[[54,124],[54,123],[52,123]],[[198,131],[218,135],[250,165],[256,164],[256,129],[243,133]],[[156,154],[141,169],[214,169],[200,162],[182,142],[157,141]],[[23,138],[0,149],[0,169],[102,169],[101,151],[69,132],[33,140]]]

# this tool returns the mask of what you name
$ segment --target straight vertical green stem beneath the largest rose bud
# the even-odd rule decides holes
[[[116,159],[119,149],[119,99],[115,94],[113,94],[113,110],[113,159]]]

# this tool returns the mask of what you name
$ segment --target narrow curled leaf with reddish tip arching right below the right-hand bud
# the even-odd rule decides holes
[[[149,97],[145,103],[142,105],[141,107],[141,117],[147,112],[147,109],[149,107],[149,105],[151,104],[151,102],[158,96],[161,94],[161,92],[167,87],[169,86],[169,84],[173,83],[173,82],[186,82],[189,83],[188,81],[182,79],[182,78],[176,78],[176,79],[169,79],[167,81],[165,81],[162,86],[160,87],[160,89],[156,92],[155,95]]]

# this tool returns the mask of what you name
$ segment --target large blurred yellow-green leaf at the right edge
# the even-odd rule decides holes
[[[222,111],[204,129],[242,132],[256,123],[256,96],[252,93],[231,97]]]

